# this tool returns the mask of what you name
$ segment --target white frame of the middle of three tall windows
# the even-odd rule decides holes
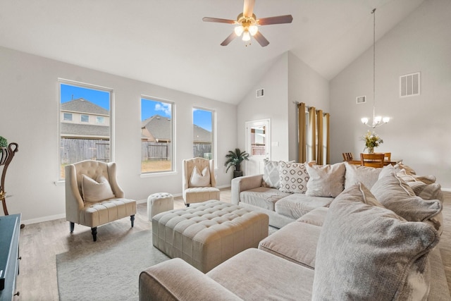
[[[160,171],[142,171],[142,149],[140,152],[140,176],[142,178],[148,177],[148,176],[154,176],[154,175],[167,175],[169,173],[175,173],[176,171],[176,154],[175,154],[175,102],[168,100],[168,99],[163,99],[161,97],[152,97],[146,94],[142,94],[140,97],[140,124],[142,123],[142,101],[149,101],[149,102],[161,102],[163,104],[170,104],[171,105],[171,149],[170,149],[170,153],[172,154],[171,156],[171,169],[169,170],[160,170]],[[151,116],[147,117],[150,118]],[[140,137],[141,139],[142,137]]]

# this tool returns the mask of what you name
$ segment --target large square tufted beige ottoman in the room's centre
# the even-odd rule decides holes
[[[157,214],[152,243],[206,273],[268,236],[268,215],[210,200]]]

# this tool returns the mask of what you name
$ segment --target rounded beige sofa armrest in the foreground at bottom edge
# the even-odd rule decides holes
[[[209,276],[174,258],[149,267],[140,274],[143,300],[241,300]]]

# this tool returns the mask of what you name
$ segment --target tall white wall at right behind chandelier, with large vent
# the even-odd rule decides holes
[[[376,128],[383,145],[376,152],[392,152],[416,173],[435,175],[451,188],[451,1],[424,1],[410,16],[376,43],[376,115],[390,123]],[[372,47],[330,81],[332,159],[342,152],[362,152],[359,140],[372,118]],[[421,95],[399,97],[399,77],[421,72]],[[355,97],[366,95],[366,104]]]

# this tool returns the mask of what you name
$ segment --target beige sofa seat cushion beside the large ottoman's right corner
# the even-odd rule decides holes
[[[316,245],[321,227],[293,221],[259,243],[259,249],[295,264],[315,268]]]

